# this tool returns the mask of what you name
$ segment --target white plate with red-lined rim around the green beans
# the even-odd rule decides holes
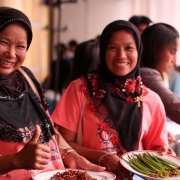
[[[145,153],[145,152],[149,152],[151,154],[154,154],[155,156],[158,156],[160,158],[163,158],[165,160],[169,160],[175,164],[177,164],[178,166],[180,166],[180,158],[178,157],[175,157],[175,156],[171,156],[171,155],[160,155],[160,153],[156,152],[156,151],[131,151],[131,152],[128,152],[128,153],[125,153],[123,154],[121,157],[125,160],[128,160],[128,155],[131,155],[132,153],[133,154],[142,154],[142,153]],[[123,160],[122,158],[120,158],[120,163],[126,168],[128,169],[129,171],[147,179],[147,180],[161,180],[161,179],[165,179],[165,180],[180,180],[180,176],[178,177],[170,177],[170,178],[154,178],[154,177],[150,177],[150,176],[147,176],[147,175],[144,175],[144,174],[141,174],[139,172],[137,172],[136,170],[134,170],[125,160]]]

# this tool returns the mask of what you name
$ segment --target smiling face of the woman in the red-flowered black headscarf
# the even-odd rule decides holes
[[[138,52],[134,37],[125,30],[115,31],[106,48],[106,64],[117,76],[129,74],[136,66]]]

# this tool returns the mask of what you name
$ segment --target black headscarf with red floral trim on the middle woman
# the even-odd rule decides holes
[[[135,68],[125,76],[113,74],[108,69],[105,59],[109,39],[119,30],[125,30],[133,35],[138,51]],[[106,121],[109,127],[118,132],[121,144],[127,151],[138,149],[141,134],[142,102],[141,106],[136,103],[136,100],[140,98],[141,101],[143,96],[143,86],[139,76],[141,53],[141,38],[136,26],[124,20],[114,21],[107,25],[101,34],[100,71],[85,76],[95,114],[103,117],[104,122]]]

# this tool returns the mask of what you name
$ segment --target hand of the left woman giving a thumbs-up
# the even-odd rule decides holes
[[[43,144],[38,144],[41,129],[37,125],[31,140],[18,153],[13,155],[15,169],[38,169],[42,170],[50,161],[51,149]]]

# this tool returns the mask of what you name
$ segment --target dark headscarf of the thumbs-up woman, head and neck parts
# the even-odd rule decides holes
[[[23,12],[17,9],[3,6],[0,7],[0,32],[14,22],[20,22],[26,27],[28,33],[28,49],[32,40],[30,20]],[[15,71],[6,77],[0,75],[0,88],[0,95],[18,97],[21,93],[27,91],[27,82]]]

